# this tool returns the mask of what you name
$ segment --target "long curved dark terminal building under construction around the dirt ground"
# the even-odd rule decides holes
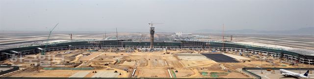
[[[0,50],[0,59],[6,59],[8,55],[25,55],[39,53],[40,50],[45,52],[75,50],[75,49],[106,49],[106,48],[142,48],[149,49],[150,42],[134,42],[131,39],[119,40],[77,40],[66,41],[45,45],[21,46],[16,48],[7,48]],[[174,40],[171,42],[154,42],[155,50],[158,49],[190,49],[190,50],[216,50],[216,51],[237,51],[247,53],[264,54],[278,58],[286,58],[293,62],[304,64],[314,64],[314,51],[312,50],[285,50],[270,47],[259,47],[233,42],[215,42],[215,41],[187,41]],[[16,53],[15,53],[16,52]],[[8,53],[8,54],[5,54]]]

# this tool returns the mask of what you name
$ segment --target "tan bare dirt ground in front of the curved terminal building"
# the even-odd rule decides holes
[[[138,52],[133,53],[125,52],[87,52],[86,50],[73,50],[71,53],[60,52],[48,52],[49,55],[58,55],[47,60],[52,61],[47,63],[54,66],[55,64],[64,65],[61,67],[69,68],[86,68],[91,67],[93,70],[43,70],[44,67],[34,67],[30,63],[24,62],[10,62],[6,63],[21,65],[26,67],[25,71],[17,72],[7,75],[5,77],[75,77],[80,74],[78,72],[88,71],[90,73],[82,73],[86,76],[79,76],[84,78],[102,77],[102,74],[111,74],[110,77],[129,78],[134,69],[134,77],[149,77],[149,78],[170,78],[170,75],[174,77],[172,71],[178,71],[174,74],[176,78],[212,78],[210,76],[203,76],[200,72],[217,72],[218,78],[249,78],[242,73],[236,71],[236,69],[243,67],[297,67],[289,66],[286,63],[273,64],[267,61],[260,61],[254,57],[244,57],[236,54],[228,53],[228,56],[232,56],[235,59],[251,60],[239,63],[218,63],[204,55],[191,50],[177,50],[169,51],[169,54],[163,51],[155,52]],[[83,53],[85,55],[83,55]],[[62,54],[63,56],[60,56]],[[86,55],[88,54],[88,55]],[[26,55],[21,58],[31,59],[39,54]],[[63,58],[63,59],[62,59]],[[38,63],[39,61],[37,61]],[[276,61],[279,62],[279,61]],[[262,64],[261,64],[262,63]],[[312,67],[304,64],[299,64],[301,67]],[[168,72],[170,71],[170,74]],[[100,72],[92,73],[93,71]],[[117,73],[112,73],[117,71]],[[76,74],[77,73],[77,74]],[[121,75],[120,75],[121,73]],[[226,74],[227,73],[227,74]],[[210,74],[209,74],[210,75]],[[134,78],[132,77],[132,78]]]

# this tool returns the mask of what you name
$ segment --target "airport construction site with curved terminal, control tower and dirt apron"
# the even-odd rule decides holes
[[[67,41],[20,46],[10,46],[19,43],[2,44],[5,48],[0,50],[0,76],[17,79],[279,79],[284,76],[272,74],[287,69],[299,73],[311,70],[309,77],[314,77],[313,50],[204,41],[199,40],[201,35],[196,39],[191,33],[181,32],[170,38],[155,34],[153,23],[150,25],[149,39],[143,34],[139,39],[121,39],[116,32],[115,38],[72,40],[70,34],[71,40]]]

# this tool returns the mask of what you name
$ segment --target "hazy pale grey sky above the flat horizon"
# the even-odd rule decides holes
[[[0,0],[0,30],[290,30],[314,26],[314,0]]]

